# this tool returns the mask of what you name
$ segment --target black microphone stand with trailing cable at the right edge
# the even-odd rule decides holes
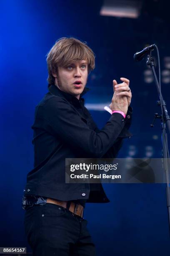
[[[157,52],[158,52],[158,47],[155,45]],[[152,51],[152,50],[151,50]],[[157,102],[158,105],[161,107],[162,115],[158,115],[158,113],[155,113],[155,118],[160,118],[161,119],[161,127],[162,127],[162,144],[163,144],[163,167],[165,169],[165,176],[166,176],[166,195],[167,195],[167,207],[168,207],[168,220],[169,220],[169,228],[170,228],[170,178],[169,178],[169,173],[170,173],[170,156],[169,156],[169,151],[168,151],[168,139],[167,139],[167,133],[166,133],[166,125],[168,127],[168,131],[170,133],[170,117],[168,115],[168,111],[166,108],[166,103],[163,100],[163,96],[161,93],[161,87],[160,87],[160,81],[158,83],[158,79],[155,73],[155,65],[154,65],[154,59],[150,54],[148,54],[148,61],[146,62],[148,66],[153,71],[154,75],[154,80],[155,84],[157,87],[158,95],[160,98],[160,101]],[[158,58],[159,58],[159,53],[158,53]],[[159,68],[159,74],[160,74],[160,68]],[[155,120],[154,118],[154,120]],[[153,121],[154,122],[154,121]],[[153,127],[153,124],[151,125]]]

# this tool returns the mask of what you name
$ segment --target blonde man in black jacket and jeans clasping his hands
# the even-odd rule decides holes
[[[24,189],[25,232],[33,255],[94,256],[83,210],[86,202],[109,200],[102,184],[65,184],[65,158],[116,156],[122,138],[131,135],[129,80],[113,80],[112,115],[99,131],[82,98],[95,67],[92,50],[75,38],[60,38],[47,54],[47,67],[49,92],[32,125],[35,161]]]

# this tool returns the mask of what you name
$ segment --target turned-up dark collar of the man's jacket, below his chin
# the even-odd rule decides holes
[[[68,101],[73,101],[76,98],[66,92],[62,92],[57,86],[54,84],[48,85],[48,90],[55,96],[64,96]],[[90,89],[85,87],[83,92],[80,94],[80,98],[82,95],[84,95],[86,92],[88,92]]]

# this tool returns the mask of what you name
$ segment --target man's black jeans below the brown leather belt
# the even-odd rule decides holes
[[[87,220],[50,203],[25,210],[25,233],[34,256],[95,256]]]

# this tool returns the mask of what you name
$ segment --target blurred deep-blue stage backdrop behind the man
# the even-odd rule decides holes
[[[114,1],[112,1],[114,2]],[[170,56],[168,1],[141,1],[138,19],[100,16],[103,1],[0,1],[0,247],[27,246],[21,197],[26,175],[33,168],[31,125],[35,105],[47,92],[45,55],[63,36],[87,41],[96,55],[86,103],[110,102],[112,80],[130,79],[133,93],[133,138],[124,141],[119,157],[161,157],[161,130],[150,128],[158,94],[146,83],[146,61],[133,55],[146,44],[157,44],[161,70]],[[154,57],[157,61],[156,51]],[[156,65],[158,73],[158,66]],[[170,82],[162,81],[170,108]],[[99,128],[109,113],[90,110]],[[108,204],[87,204],[85,218],[97,255],[169,255],[169,227],[165,184],[104,184]],[[100,225],[99,225],[100,223]],[[99,228],[100,227],[100,228]]]

